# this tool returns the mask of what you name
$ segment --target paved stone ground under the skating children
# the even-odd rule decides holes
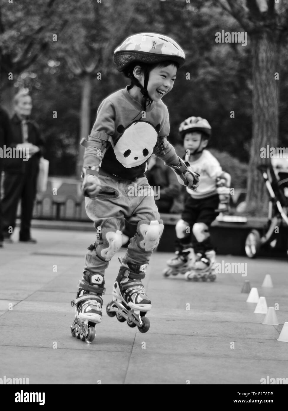
[[[88,345],[71,336],[70,301],[94,234],[34,229],[33,236],[37,245],[18,243],[16,232],[15,243],[0,249],[0,378],[29,378],[29,384],[260,384],[267,375],[288,378],[288,343],[277,341],[288,321],[287,261],[217,256],[247,263],[247,277],[186,282],[164,278],[172,254],[155,252],[143,281],[152,300],[150,330],[141,334],[109,318],[104,307]],[[121,249],[106,271],[105,305],[123,255]],[[265,274],[272,277],[271,289],[261,287]],[[256,304],[241,293],[245,279],[268,306],[279,304],[279,326],[263,325],[265,315],[253,313]]]

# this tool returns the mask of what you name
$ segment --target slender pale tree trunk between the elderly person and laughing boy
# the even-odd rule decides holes
[[[86,73],[82,82],[81,97],[81,117],[80,117],[80,140],[85,137],[88,139],[90,133],[90,104],[91,104],[92,76]],[[83,167],[83,157],[85,148],[79,145],[78,160],[76,166],[76,177],[80,178]]]

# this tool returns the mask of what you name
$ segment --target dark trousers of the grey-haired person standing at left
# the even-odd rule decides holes
[[[34,166],[34,167],[33,167]],[[9,237],[16,225],[18,203],[21,200],[21,227],[19,238],[30,238],[30,226],[34,200],[36,196],[38,169],[34,164],[26,164],[24,174],[10,174],[5,172],[3,181],[4,197],[2,199],[3,235]]]

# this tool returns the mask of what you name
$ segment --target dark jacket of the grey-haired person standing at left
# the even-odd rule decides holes
[[[23,174],[26,167],[32,167],[34,170],[39,169],[39,158],[43,155],[44,141],[41,139],[39,128],[36,123],[30,119],[27,120],[28,125],[28,142],[40,148],[40,151],[35,153],[28,161],[23,161],[23,158],[7,158],[4,162],[4,169],[7,173]],[[11,119],[12,139],[10,147],[16,147],[17,144],[23,143],[21,120],[18,115],[14,114]]]

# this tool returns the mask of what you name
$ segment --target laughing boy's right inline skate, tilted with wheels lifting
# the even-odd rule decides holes
[[[137,266],[132,263],[123,263],[115,280],[112,292],[112,301],[106,306],[106,313],[120,323],[127,321],[129,327],[138,327],[140,332],[147,332],[150,321],[146,317],[150,311],[151,301],[146,295],[141,279],[145,277],[147,264]]]

